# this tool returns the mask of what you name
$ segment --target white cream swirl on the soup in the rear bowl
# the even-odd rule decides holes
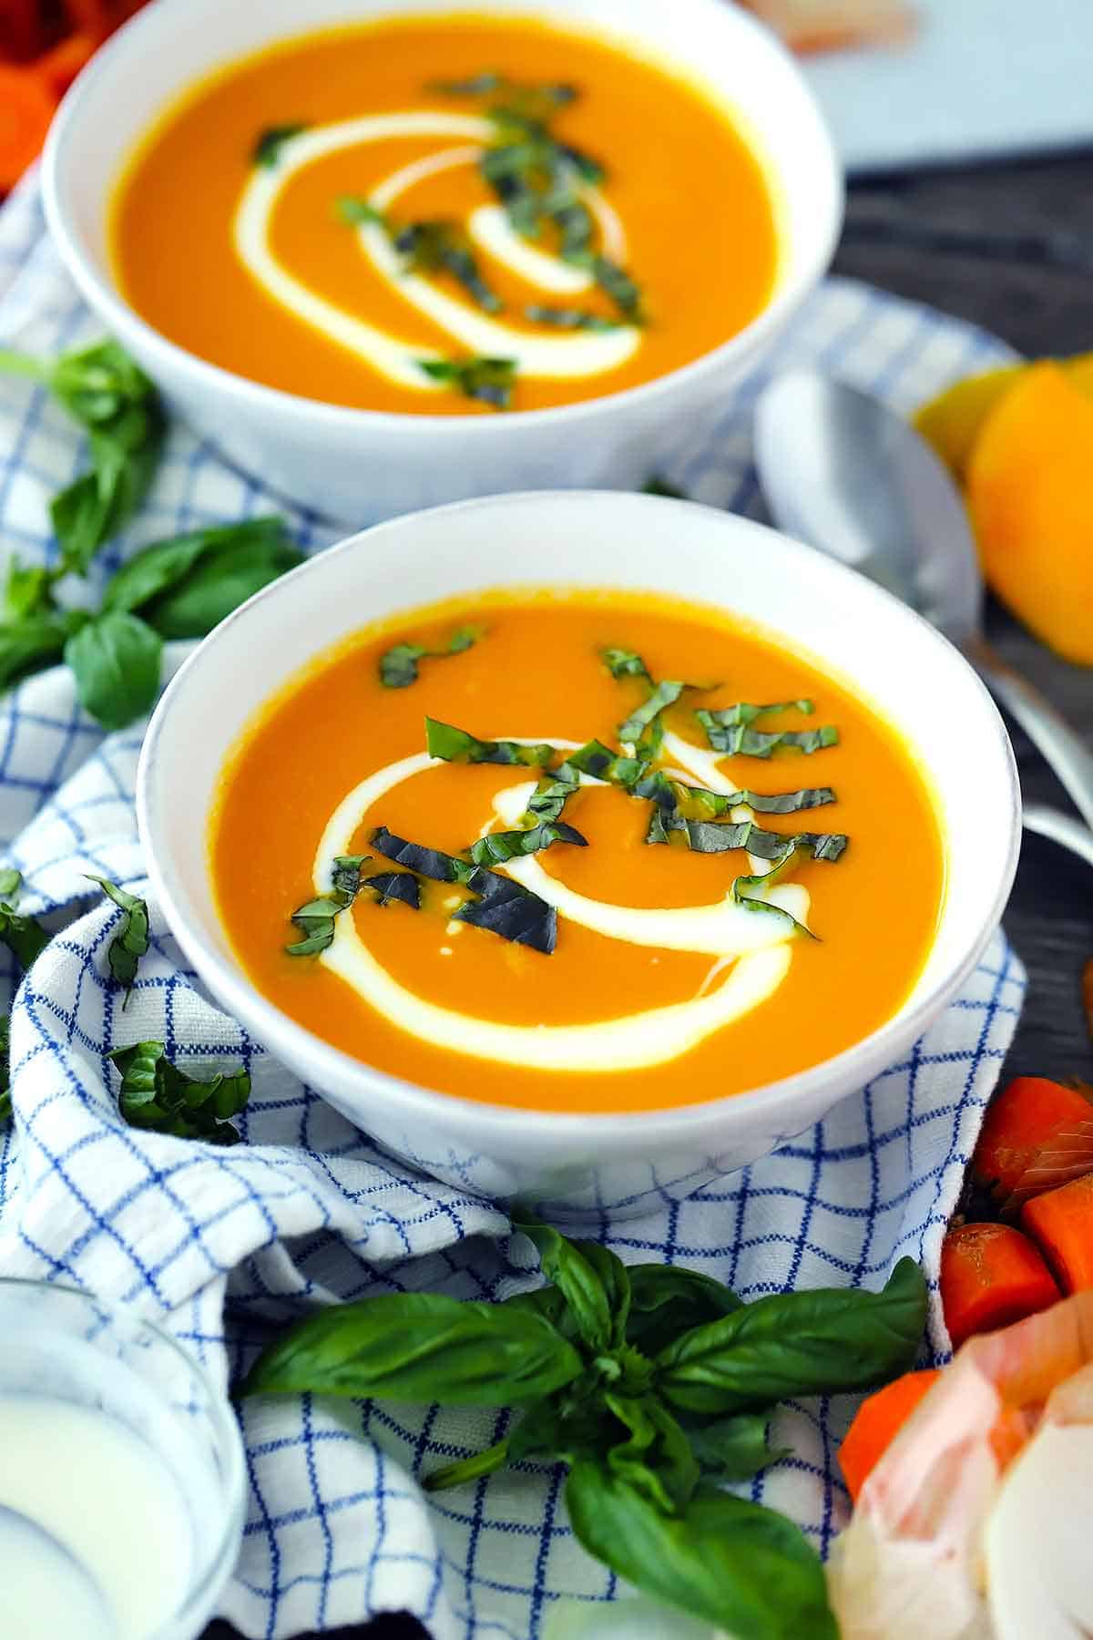
[[[388,380],[420,392],[442,390],[444,384],[433,380],[420,364],[421,359],[441,358],[434,348],[415,346],[392,336],[328,302],[298,280],[274,256],[270,223],[285,184],[324,154],[398,136],[472,139],[472,146],[464,143],[464,146],[424,156],[387,177],[372,190],[370,203],[377,210],[388,210],[406,189],[426,177],[454,166],[475,164],[482,144],[492,134],[493,126],[487,120],[431,110],[365,115],[302,131],[280,144],[272,166],[252,167],[234,216],[236,254],[267,295],[331,341],[356,353]],[[616,213],[596,189],[588,189],[585,198],[600,225],[605,253],[623,261],[626,239]],[[483,213],[487,215],[483,216]],[[503,226],[498,225],[498,216]],[[513,359],[521,376],[554,380],[600,376],[623,364],[641,344],[641,331],[633,325],[570,336],[537,336],[513,330],[465,302],[449,297],[428,279],[405,274],[401,259],[382,228],[362,223],[356,231],[361,249],[380,277],[393,285],[411,307],[472,353]],[[513,233],[500,207],[480,207],[474,212],[469,231],[490,254],[542,290],[570,295],[587,289],[590,282],[585,271],[574,269],[560,257],[528,246]],[[580,284],[574,282],[577,279]]]

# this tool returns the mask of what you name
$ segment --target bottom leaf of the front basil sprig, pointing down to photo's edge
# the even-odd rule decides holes
[[[590,1555],[736,1640],[837,1640],[819,1556],[785,1515],[705,1487],[667,1515],[588,1460],[574,1465],[565,1504]]]

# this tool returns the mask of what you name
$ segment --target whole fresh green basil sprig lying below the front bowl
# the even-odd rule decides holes
[[[913,1363],[926,1282],[741,1301],[708,1278],[629,1269],[605,1246],[516,1217],[547,1286],[501,1304],[385,1294],[320,1310],[262,1351],[243,1394],[516,1405],[497,1445],[426,1478],[567,1463],[577,1538],[621,1578],[754,1640],[836,1640],[819,1558],[785,1517],[719,1491],[778,1456],[780,1399],[869,1389]]]

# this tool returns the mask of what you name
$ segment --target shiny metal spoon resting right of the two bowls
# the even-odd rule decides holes
[[[775,523],[909,604],[955,643],[1055,771],[1086,822],[1032,804],[1031,831],[1093,863],[1093,753],[983,636],[983,581],[964,502],[901,415],[813,371],[778,376],[755,410],[755,464]]]

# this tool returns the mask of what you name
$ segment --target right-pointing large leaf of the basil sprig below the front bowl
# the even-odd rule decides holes
[[[911,1368],[924,1325],[926,1281],[905,1258],[883,1292],[773,1294],[685,1333],[657,1356],[657,1389],[710,1415],[870,1389]]]

